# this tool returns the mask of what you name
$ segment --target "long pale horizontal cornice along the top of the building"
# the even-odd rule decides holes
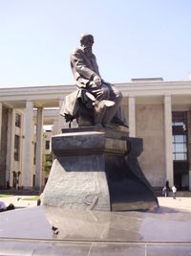
[[[170,95],[190,95],[191,81],[131,81],[115,83],[123,96],[145,97]],[[60,97],[73,92],[75,85],[47,85],[32,87],[0,88],[0,102],[33,101],[34,106],[57,106]],[[22,107],[22,105],[20,106]]]

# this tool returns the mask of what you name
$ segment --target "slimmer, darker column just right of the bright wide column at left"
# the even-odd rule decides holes
[[[43,108],[37,108],[36,116],[36,152],[35,152],[35,189],[41,188],[42,175],[42,140],[43,136]]]

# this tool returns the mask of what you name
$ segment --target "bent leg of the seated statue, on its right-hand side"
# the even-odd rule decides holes
[[[103,117],[103,125],[107,126],[114,116],[117,114],[117,110],[121,104],[122,101],[122,93],[117,90],[117,88],[114,85],[107,85],[110,89],[110,99],[111,101],[115,102],[115,105],[111,107],[107,107],[105,116]]]

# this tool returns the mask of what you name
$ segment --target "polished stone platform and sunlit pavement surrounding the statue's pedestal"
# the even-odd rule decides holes
[[[0,198],[16,207],[0,213],[0,255],[190,255],[191,198],[159,198],[153,212],[91,214],[36,207],[30,198]]]

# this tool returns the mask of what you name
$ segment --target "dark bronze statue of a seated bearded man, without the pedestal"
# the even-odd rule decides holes
[[[87,124],[84,119],[89,119],[90,125],[97,127],[111,128],[111,123],[127,126],[120,107],[121,92],[99,74],[92,51],[94,36],[81,35],[80,44],[80,48],[74,49],[71,55],[71,67],[78,89],[66,96],[60,114],[65,116],[66,121],[78,119],[79,126]]]

